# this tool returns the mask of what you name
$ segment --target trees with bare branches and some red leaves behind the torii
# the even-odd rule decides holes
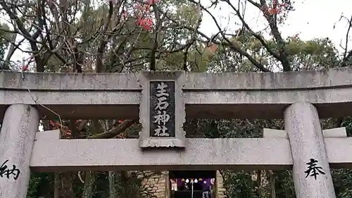
[[[349,66],[352,61],[351,17],[340,19],[348,23],[342,52],[329,38],[283,37],[279,27],[294,11],[289,0],[215,0],[210,5],[193,0],[3,0],[0,6],[6,19],[0,27],[0,66],[5,70],[273,72]],[[232,28],[222,27],[215,17],[219,6],[231,9]],[[249,8],[265,20],[263,30],[246,20]],[[218,28],[214,35],[201,32],[204,15]],[[60,117],[42,120],[42,125],[60,129],[63,138],[136,138],[140,130],[137,120]],[[351,118],[322,120],[322,125],[345,126],[351,135]],[[263,128],[282,129],[283,121],[187,120],[184,128],[187,137],[261,137]],[[221,173],[228,197],[295,197],[291,171]],[[150,197],[141,183],[150,176],[144,171],[33,173],[28,197]],[[333,177],[337,197],[352,197],[351,171],[334,170]]]

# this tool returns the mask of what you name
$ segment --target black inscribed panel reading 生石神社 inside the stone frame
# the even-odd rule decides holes
[[[175,82],[150,81],[150,137],[175,137]]]

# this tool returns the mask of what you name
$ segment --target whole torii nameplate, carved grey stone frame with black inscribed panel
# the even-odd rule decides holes
[[[139,85],[139,147],[185,147],[184,71],[143,71]]]

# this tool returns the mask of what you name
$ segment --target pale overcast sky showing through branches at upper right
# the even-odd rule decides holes
[[[232,1],[234,4],[238,2]],[[201,0],[201,2],[202,4],[207,4],[208,0]],[[286,23],[282,27],[279,27],[284,37],[293,36],[297,33],[299,33],[301,39],[305,40],[317,37],[329,37],[337,44],[337,47],[341,39],[343,43],[346,41],[347,21],[341,20],[335,28],[333,27],[334,23],[341,17],[341,13],[344,13],[344,16],[348,18],[351,17],[351,0],[296,0],[294,8],[296,10],[289,13]],[[220,10],[213,11],[213,13],[218,13],[217,18],[222,17],[223,27],[234,30],[238,28],[238,26],[234,25],[234,17],[228,20],[229,16],[233,15],[226,4],[221,4]],[[246,21],[249,21],[249,25],[253,27],[253,30],[263,30],[265,28],[265,25],[263,25],[265,24],[265,19],[258,12],[258,8],[248,4],[245,17]],[[218,30],[213,20],[206,13],[204,13],[201,30],[209,34],[216,33]],[[352,30],[350,35],[352,36]],[[352,44],[349,44],[349,46],[352,47]]]

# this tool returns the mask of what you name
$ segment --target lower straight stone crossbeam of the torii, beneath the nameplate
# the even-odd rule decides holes
[[[283,170],[291,168],[284,138],[187,139],[184,150],[142,150],[137,139],[59,140],[58,130],[37,132],[32,171]],[[352,137],[325,138],[330,167],[352,168]],[[307,159],[309,160],[309,159]]]

